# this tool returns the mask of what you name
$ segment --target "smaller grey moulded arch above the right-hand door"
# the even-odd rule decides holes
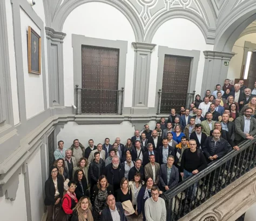
[[[172,18],[185,18],[196,24],[201,32],[203,33],[205,37],[205,42],[207,44],[214,44],[214,30],[212,29],[211,31],[208,29],[207,24],[205,23],[205,20],[197,15],[196,13],[193,13],[192,11],[188,10],[177,10],[177,9],[172,9],[169,11],[166,11],[165,13],[162,13],[160,17],[158,17],[156,20],[154,20],[150,27],[150,29],[146,32],[145,34],[145,42],[151,43],[152,39],[154,37],[154,34],[157,32],[159,27],[167,22],[167,20],[170,20]]]

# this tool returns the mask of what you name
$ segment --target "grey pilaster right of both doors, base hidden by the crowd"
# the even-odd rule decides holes
[[[210,89],[211,92],[215,90],[217,84],[224,85],[224,80],[227,78],[228,66],[224,65],[225,61],[230,61],[235,55],[233,52],[220,52],[220,51],[204,51],[205,66],[204,75],[201,87],[202,98],[205,91]]]

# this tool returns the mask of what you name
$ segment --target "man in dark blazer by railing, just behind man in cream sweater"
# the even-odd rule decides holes
[[[174,157],[168,156],[167,163],[162,164],[159,172],[160,179],[160,190],[167,191],[174,187],[179,182],[179,171],[178,168],[173,165]],[[169,180],[167,180],[168,170],[171,169],[171,174]]]

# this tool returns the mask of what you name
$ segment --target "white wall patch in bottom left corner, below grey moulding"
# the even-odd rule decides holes
[[[26,201],[24,189],[24,176],[19,175],[19,186],[15,201],[0,197],[0,214],[1,221],[19,220],[26,221]],[[38,221],[41,219],[38,219]]]

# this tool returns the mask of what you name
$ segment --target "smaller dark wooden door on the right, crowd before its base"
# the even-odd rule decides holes
[[[160,113],[186,106],[191,58],[165,55]]]

